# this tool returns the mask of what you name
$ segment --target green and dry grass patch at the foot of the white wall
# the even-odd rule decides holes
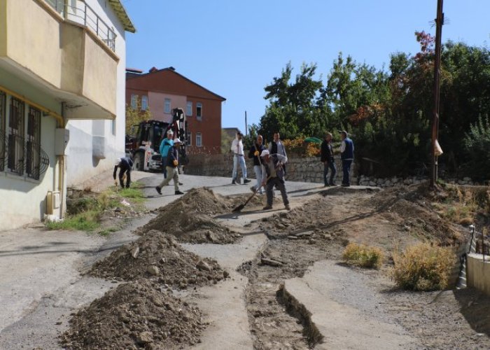
[[[116,189],[114,186],[102,193],[90,197],[84,197],[71,207],[71,213],[66,214],[64,221],[46,222],[45,227],[49,230],[80,230],[92,232],[100,228],[100,221],[104,211],[120,208],[122,211],[127,209],[123,200],[132,205],[132,209],[144,209],[143,185],[138,182],[132,183],[132,188]],[[117,228],[107,228],[99,231],[99,235],[107,236]]]

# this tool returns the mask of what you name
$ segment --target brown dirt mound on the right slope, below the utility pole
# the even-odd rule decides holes
[[[393,188],[375,194],[366,205],[388,216],[398,216],[404,230],[426,239],[437,239],[443,245],[461,243],[463,236],[456,225],[441,218],[431,207],[440,195],[430,192],[427,183]]]

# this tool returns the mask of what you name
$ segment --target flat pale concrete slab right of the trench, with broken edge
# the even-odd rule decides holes
[[[347,269],[323,260],[284,283],[286,300],[322,339],[315,349],[416,349],[416,340],[379,308],[365,276]]]

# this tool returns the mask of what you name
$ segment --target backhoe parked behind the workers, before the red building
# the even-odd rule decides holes
[[[167,131],[174,132],[174,139],[181,139],[179,164],[187,165],[188,123],[183,109],[172,109],[172,123],[160,120],[146,120],[134,125],[137,131],[134,137],[126,138],[126,153],[133,159],[133,168],[139,171],[159,172],[163,170],[160,142],[167,137]]]

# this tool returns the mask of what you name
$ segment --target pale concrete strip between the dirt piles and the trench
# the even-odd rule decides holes
[[[200,288],[190,296],[210,323],[204,330],[202,343],[193,349],[253,349],[244,294],[248,279],[235,270],[243,262],[255,258],[266,243],[265,235],[251,235],[237,244],[182,244],[188,251],[218,260],[230,272],[230,279],[216,286]]]

